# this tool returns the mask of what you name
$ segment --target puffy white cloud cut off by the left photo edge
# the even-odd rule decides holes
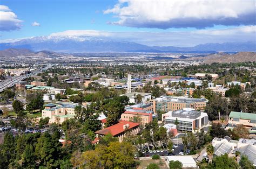
[[[8,6],[0,5],[0,31],[13,31],[21,29],[23,21],[18,19]]]

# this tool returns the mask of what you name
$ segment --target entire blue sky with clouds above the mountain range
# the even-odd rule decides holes
[[[255,41],[255,25],[256,0],[0,1],[2,42],[86,35],[150,46],[194,46]]]

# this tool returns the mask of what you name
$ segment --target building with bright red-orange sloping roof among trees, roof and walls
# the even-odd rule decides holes
[[[119,123],[109,126],[108,128],[96,131],[96,137],[105,136],[111,134],[119,139],[119,142],[125,137],[125,133],[130,132],[132,135],[136,135],[139,132],[139,123],[119,121]]]

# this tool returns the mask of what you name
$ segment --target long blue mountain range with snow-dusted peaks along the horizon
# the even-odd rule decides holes
[[[32,51],[54,51],[60,53],[82,52],[244,52],[256,51],[256,41],[237,43],[210,43],[194,47],[147,46],[129,41],[88,36],[42,36],[0,43],[0,50],[26,48]]]

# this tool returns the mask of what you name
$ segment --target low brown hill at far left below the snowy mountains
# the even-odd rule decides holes
[[[17,56],[48,57],[53,55],[58,56],[60,54],[55,52],[49,52],[49,51],[32,52],[31,50],[27,50],[23,48],[21,49],[9,48],[9,49],[0,51],[0,57],[17,57]]]

